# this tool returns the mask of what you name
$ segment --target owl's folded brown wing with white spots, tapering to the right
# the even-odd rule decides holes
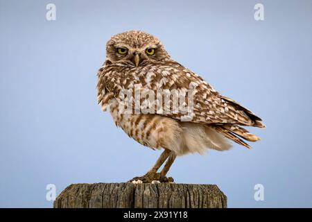
[[[191,101],[193,104],[190,104],[193,114],[190,117],[182,113],[164,114],[167,117],[205,124],[264,127],[261,119],[253,112],[236,101],[219,94],[200,76],[176,62],[169,65],[156,65],[153,70],[147,71],[146,76],[148,77],[146,85],[149,89],[193,90],[193,101]],[[185,103],[189,105],[187,99]]]

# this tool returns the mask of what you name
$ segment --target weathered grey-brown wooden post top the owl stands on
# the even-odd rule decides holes
[[[73,184],[61,192],[53,207],[226,208],[227,197],[216,185],[130,182]]]

